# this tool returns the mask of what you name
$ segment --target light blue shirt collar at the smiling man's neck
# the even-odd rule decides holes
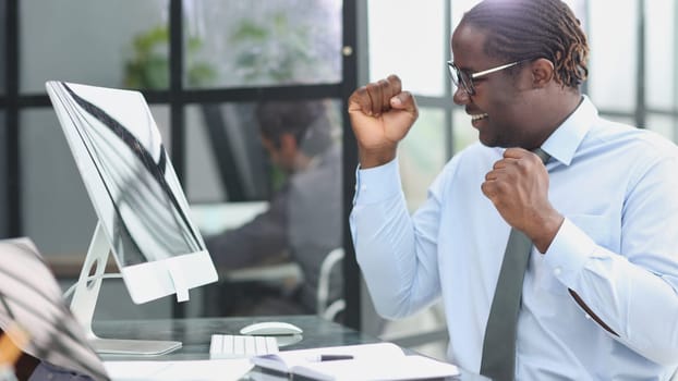
[[[582,97],[577,110],[542,145],[544,151],[566,165],[572,162],[577,148],[598,118],[598,110],[589,97]]]

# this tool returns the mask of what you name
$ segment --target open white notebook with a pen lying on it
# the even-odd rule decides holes
[[[405,355],[392,343],[284,351],[255,356],[251,361],[266,371],[328,381],[425,380],[459,374],[451,364]]]

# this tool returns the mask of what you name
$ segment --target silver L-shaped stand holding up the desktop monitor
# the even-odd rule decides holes
[[[99,297],[101,276],[106,269],[106,262],[110,255],[110,244],[104,232],[101,223],[97,221],[94,236],[87,249],[87,257],[77,280],[75,293],[71,300],[71,310],[83,325],[85,335],[94,349],[99,354],[154,356],[162,355],[181,347],[181,342],[174,341],[149,341],[149,340],[121,340],[98,337],[92,330],[94,309]],[[92,280],[88,280],[92,278]]]

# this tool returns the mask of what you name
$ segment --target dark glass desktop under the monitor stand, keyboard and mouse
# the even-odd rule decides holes
[[[104,355],[101,357],[105,360],[198,360],[209,358],[209,340],[213,333],[239,334],[241,328],[261,321],[286,321],[298,325],[304,331],[303,340],[294,344],[280,346],[280,351],[382,342],[377,337],[365,335],[353,329],[313,315],[95,321],[94,331],[101,337],[173,340],[183,343],[181,348],[167,355],[150,357]],[[243,380],[251,380],[251,378],[245,377]],[[453,380],[481,381],[488,379],[462,370],[461,376],[453,378]]]

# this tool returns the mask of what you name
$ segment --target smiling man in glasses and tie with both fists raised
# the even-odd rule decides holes
[[[441,298],[449,360],[498,380],[669,379],[678,149],[597,115],[579,89],[586,38],[559,0],[483,1],[451,50],[453,99],[480,143],[452,158],[412,217],[396,153],[416,120],[414,98],[389,76],[349,100],[360,153],[352,237],[377,310],[400,318]],[[533,247],[501,373],[486,371],[499,345],[484,340],[503,262],[513,259],[504,258],[511,229]]]

